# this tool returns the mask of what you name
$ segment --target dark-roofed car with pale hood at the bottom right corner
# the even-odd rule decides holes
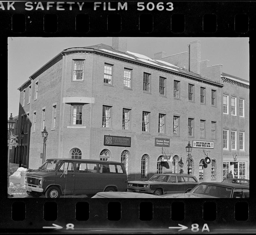
[[[168,198],[249,198],[249,186],[241,184],[204,182],[198,184],[188,193],[169,194],[162,197]]]

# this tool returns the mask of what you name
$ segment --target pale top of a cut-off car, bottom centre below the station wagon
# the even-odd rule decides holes
[[[134,193],[134,192],[99,192],[92,198],[161,198],[153,194]]]

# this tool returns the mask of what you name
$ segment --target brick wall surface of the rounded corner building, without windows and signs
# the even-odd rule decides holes
[[[102,44],[100,44],[102,45]],[[103,46],[111,51],[111,47]],[[197,48],[198,49],[198,48]],[[112,49],[113,50],[113,49]],[[202,181],[222,180],[222,85],[211,79],[197,76],[185,70],[168,70],[139,60],[120,58],[100,51],[99,47],[70,48],[57,55],[51,62],[31,76],[32,95],[38,81],[38,98],[20,107],[19,117],[29,112],[30,132],[28,132],[29,168],[37,168],[41,163],[43,149],[42,109],[45,108],[45,126],[48,131],[46,159],[51,157],[69,158],[70,152],[78,148],[82,158],[99,159],[100,152],[107,150],[109,160],[121,161],[123,151],[129,152],[129,180],[141,179],[141,158],[148,155],[148,176],[156,173],[157,159],[162,155],[182,158],[184,173],[187,172],[186,145],[193,140],[214,142],[213,149],[193,148],[194,175],[199,178],[199,162],[208,156],[216,160],[214,179],[211,164],[202,169]],[[199,59],[199,52],[197,57]],[[164,55],[164,53],[161,53]],[[157,57],[159,58],[159,57]],[[167,58],[167,57],[165,57]],[[160,59],[160,58],[159,58]],[[83,79],[73,80],[74,60],[84,61]],[[163,59],[162,59],[163,60]],[[168,60],[164,60],[168,61]],[[170,62],[170,61],[168,61]],[[104,84],[104,64],[112,65],[112,83]],[[172,64],[174,64],[172,62]],[[185,63],[185,66],[186,63]],[[194,65],[193,65],[194,66]],[[199,66],[199,61],[198,61]],[[196,68],[198,68],[196,66]],[[131,70],[131,88],[124,87],[124,68]],[[178,71],[178,70],[177,70]],[[143,73],[150,74],[150,90],[143,91]],[[165,94],[159,94],[159,77],[165,78]],[[179,82],[179,97],[174,97],[174,80]],[[220,80],[219,77],[215,81]],[[22,91],[20,103],[22,103]],[[188,84],[194,85],[194,100],[188,101]],[[200,103],[200,88],[205,89],[205,102]],[[211,91],[216,91],[216,105],[211,104]],[[248,99],[249,101],[249,99]],[[72,124],[72,105],[82,104],[82,124]],[[53,105],[56,105],[56,127],[52,128]],[[111,107],[111,128],[102,127],[102,106]],[[130,130],[122,129],[123,108],[131,110]],[[33,114],[36,112],[36,130],[33,131]],[[149,112],[149,132],[142,131],[142,112]],[[165,114],[165,132],[158,133],[158,115]],[[173,134],[173,116],[179,117],[179,135]],[[194,134],[188,136],[188,118],[194,119]],[[200,120],[205,121],[205,136],[200,137]],[[20,121],[20,118],[19,118]],[[212,122],[216,122],[216,138],[212,139]],[[104,135],[131,137],[131,147],[104,145]],[[155,138],[170,139],[170,147],[155,146]],[[176,162],[177,163],[177,162]],[[164,168],[164,167],[163,167]],[[163,172],[173,170],[163,169]],[[179,173],[180,167],[176,168]]]

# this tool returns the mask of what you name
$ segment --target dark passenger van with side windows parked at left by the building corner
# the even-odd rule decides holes
[[[25,175],[28,195],[58,198],[60,195],[119,191],[127,189],[127,173],[120,162],[52,158]]]

